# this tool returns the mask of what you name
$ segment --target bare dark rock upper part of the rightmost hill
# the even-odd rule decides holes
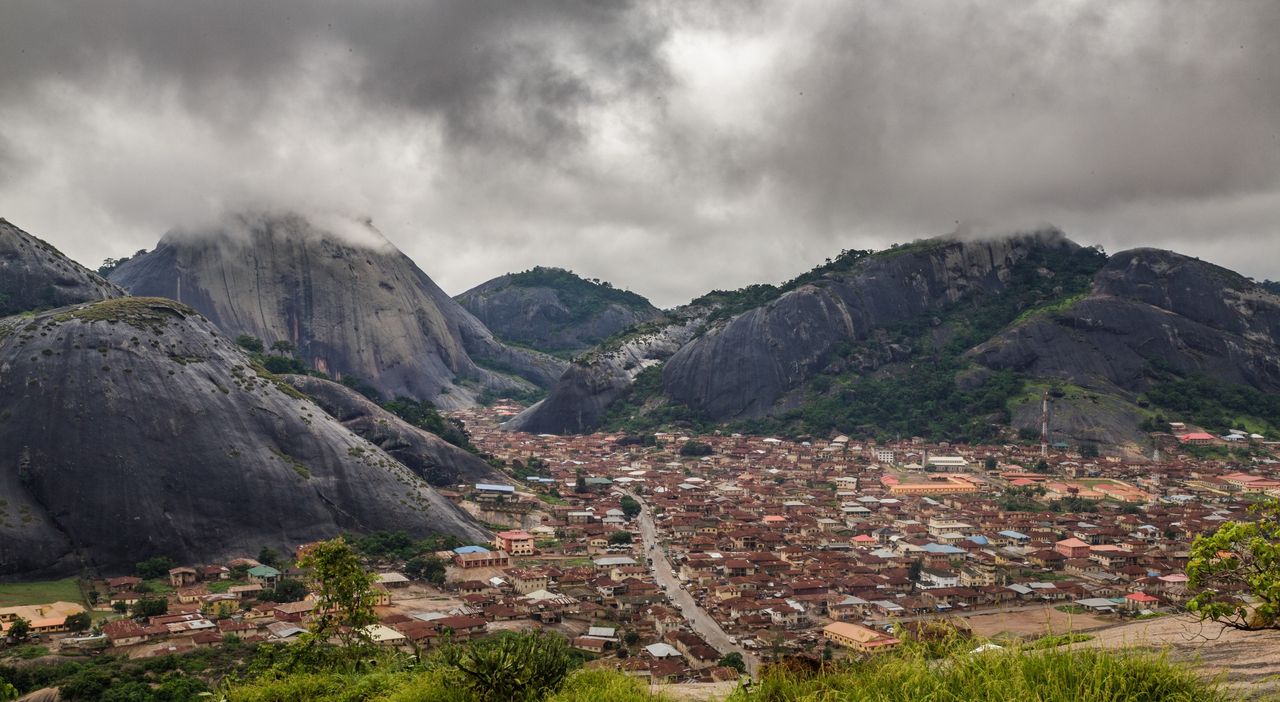
[[[1280,297],[1171,251],[1112,256],[1093,291],[973,350],[993,369],[1135,393],[1152,363],[1181,375],[1280,391]]]

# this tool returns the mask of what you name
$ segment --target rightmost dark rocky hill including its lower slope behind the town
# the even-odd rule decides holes
[[[1112,256],[1088,295],[1024,315],[969,357],[1056,383],[1055,429],[1116,443],[1153,414],[1224,432],[1280,428],[1268,400],[1251,398],[1280,392],[1277,345],[1280,297],[1224,268],[1138,249]],[[1199,397],[1220,393],[1229,397]],[[1038,421],[1038,402],[1012,409],[1015,425]]]

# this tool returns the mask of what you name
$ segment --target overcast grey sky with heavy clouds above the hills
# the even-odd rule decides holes
[[[0,216],[371,216],[676,305],[957,223],[1280,278],[1280,3],[5,0]]]

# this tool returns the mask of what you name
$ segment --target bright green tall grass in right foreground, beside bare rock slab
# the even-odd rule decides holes
[[[1161,655],[1001,649],[928,660],[911,649],[804,676],[768,674],[731,702],[1220,702],[1234,699]]]

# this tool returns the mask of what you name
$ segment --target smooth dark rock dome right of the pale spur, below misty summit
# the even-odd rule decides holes
[[[1056,231],[991,241],[932,240],[800,286],[677,351],[663,389],[713,420],[768,414],[832,348],[975,292],[1000,292],[1037,249],[1078,249]]]

